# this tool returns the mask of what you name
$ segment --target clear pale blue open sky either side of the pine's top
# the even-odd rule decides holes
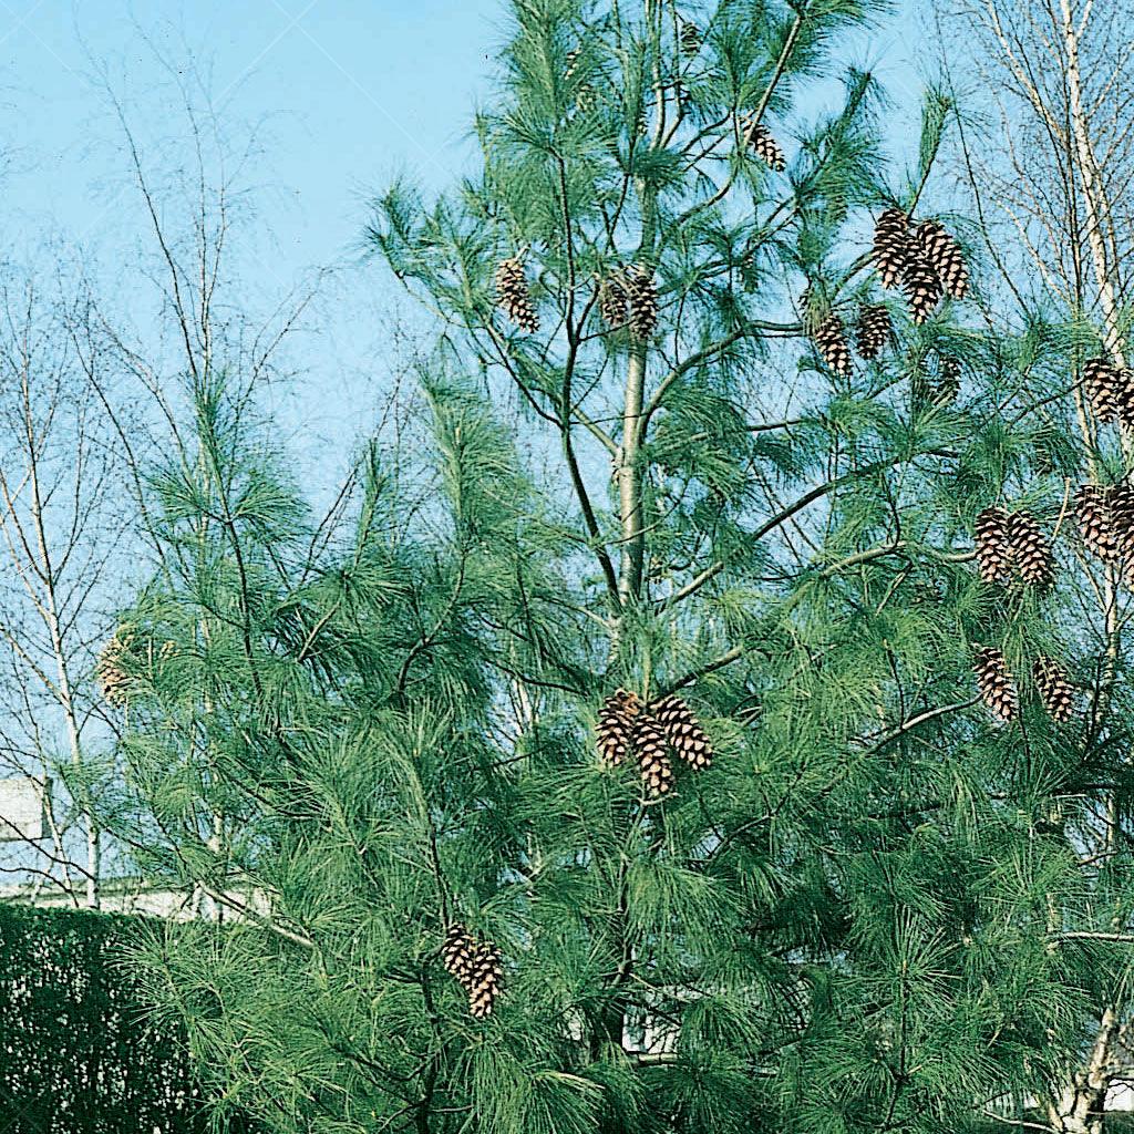
[[[915,134],[913,3],[855,50]],[[355,266],[367,197],[399,172],[437,191],[469,168],[501,11],[498,0],[0,0],[10,254],[79,245],[116,287],[144,218],[100,84],[160,168],[184,152],[176,82],[198,76],[229,136],[259,137],[247,180],[261,235],[239,264],[249,302],[268,306],[316,268],[344,266],[293,347],[301,376],[281,408],[304,465],[325,465],[330,449],[341,466],[389,379],[392,325],[420,325],[375,265]]]

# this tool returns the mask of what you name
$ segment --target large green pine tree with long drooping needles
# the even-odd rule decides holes
[[[925,188],[939,95],[899,184],[870,75],[816,108],[881,10],[517,0],[481,174],[395,186],[370,231],[442,336],[422,467],[375,446],[315,525],[197,391],[124,616],[116,829],[225,913],[142,958],[221,1115],[939,1132],[1066,1077],[1125,971],[1128,852],[1081,861],[1123,695],[1111,668],[1053,721],[1024,684],[1001,725],[973,671],[989,645],[1088,688],[1106,655],[1060,519],[1065,344],[976,318]],[[883,291],[886,210],[931,308]],[[1055,535],[1055,585],[981,579],[989,507]],[[686,741],[609,713],[600,759],[619,687],[695,713],[711,767],[651,790]],[[455,925],[499,960],[455,980]]]

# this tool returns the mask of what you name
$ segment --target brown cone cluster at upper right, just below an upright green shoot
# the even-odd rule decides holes
[[[874,225],[874,262],[882,287],[900,287],[914,323],[924,323],[943,295],[963,299],[968,268],[957,242],[934,220],[914,227],[909,214],[887,209]]]

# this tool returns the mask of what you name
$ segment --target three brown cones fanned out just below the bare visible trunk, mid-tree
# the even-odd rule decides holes
[[[666,795],[674,787],[670,753],[694,771],[712,762],[712,744],[685,701],[674,693],[649,703],[636,693],[616,689],[602,703],[598,725],[599,755],[617,767],[632,753],[646,794]]]

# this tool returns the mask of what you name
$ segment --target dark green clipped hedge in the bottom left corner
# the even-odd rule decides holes
[[[198,1134],[177,1035],[122,947],[138,919],[0,904],[0,1134]]]

